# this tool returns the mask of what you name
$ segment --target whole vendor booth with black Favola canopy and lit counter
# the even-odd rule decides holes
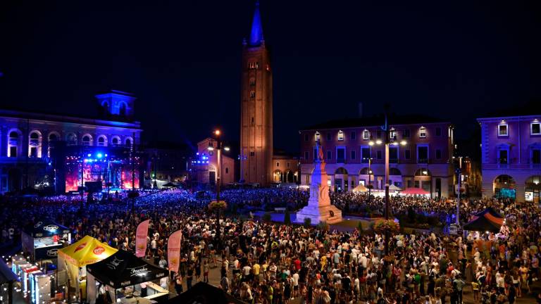
[[[106,303],[151,303],[169,298],[160,279],[168,279],[168,271],[137,258],[128,251],[117,251],[110,257],[87,265],[87,303],[95,304],[97,297]]]

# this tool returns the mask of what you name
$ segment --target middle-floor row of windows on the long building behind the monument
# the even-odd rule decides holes
[[[370,146],[361,147],[360,149],[360,159],[361,163],[368,163],[370,160],[373,160],[373,154],[372,149]],[[417,146],[417,162],[418,163],[428,163],[429,160],[430,151],[427,145],[419,145]],[[316,159],[317,156],[317,149],[314,148],[313,151],[313,159]],[[337,163],[343,163],[346,160],[346,148],[338,147],[335,151],[336,161]],[[383,150],[377,150],[375,151],[375,159],[383,160],[384,151]],[[357,151],[351,150],[349,151],[349,160],[356,160],[357,158]],[[442,150],[437,148],[435,149],[434,158],[437,160],[442,159]],[[304,151],[304,159],[309,160],[310,159],[310,152]],[[327,151],[325,155],[326,160],[333,160],[332,159],[332,151]],[[404,159],[409,160],[411,159],[411,151],[409,149],[404,149]],[[391,163],[396,163],[399,160],[399,150],[396,146],[390,146],[389,147],[389,160]]]

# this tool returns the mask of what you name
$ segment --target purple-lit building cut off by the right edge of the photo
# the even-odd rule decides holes
[[[541,115],[478,118],[483,196],[539,203]]]

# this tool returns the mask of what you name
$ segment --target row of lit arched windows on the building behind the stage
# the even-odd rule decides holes
[[[12,129],[8,133],[8,157],[18,157],[19,156],[19,149],[22,148],[23,142],[21,141],[23,137],[23,132],[20,132],[18,129]],[[58,141],[60,139],[60,134],[58,132],[51,132],[49,133],[49,137],[47,137],[49,143]],[[133,142],[132,137],[126,137],[124,139],[125,146],[131,146]],[[66,144],[68,146],[75,146],[77,145],[77,135],[75,133],[68,133],[66,134]],[[85,134],[82,136],[81,144],[83,146],[92,146],[94,144],[93,137],[90,134]],[[112,146],[120,146],[122,144],[122,140],[118,135],[115,135],[111,137],[111,145]],[[108,139],[106,135],[100,135],[97,140],[97,146],[107,146],[108,145]],[[50,148],[51,145],[49,145]],[[48,151],[50,153],[50,151]],[[28,156],[35,157],[35,158],[41,158],[42,157],[42,133],[34,130],[31,131],[28,135]]]

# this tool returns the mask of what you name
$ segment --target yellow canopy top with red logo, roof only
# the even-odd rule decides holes
[[[72,265],[83,267],[107,258],[118,250],[101,243],[92,236],[85,236],[79,241],[58,250],[58,256]],[[62,263],[61,263],[62,264]]]

